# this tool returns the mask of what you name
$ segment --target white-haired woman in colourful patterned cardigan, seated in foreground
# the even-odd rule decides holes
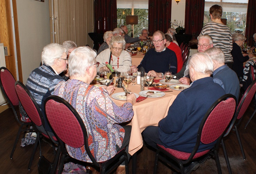
[[[114,157],[129,144],[131,126],[118,124],[132,119],[132,106],[136,97],[134,94],[127,95],[126,103],[117,106],[109,96],[114,92],[113,86],[90,85],[99,65],[95,57],[96,53],[89,47],[75,49],[69,56],[70,79],[60,82],[54,94],[64,98],[78,111],[88,131],[90,150],[96,161],[102,162]],[[66,145],[66,148],[71,157],[91,162],[84,147],[72,148]],[[126,152],[129,155],[128,148]],[[117,168],[119,172],[125,173],[124,164]]]

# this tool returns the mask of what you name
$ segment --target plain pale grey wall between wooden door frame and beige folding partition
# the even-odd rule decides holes
[[[32,70],[40,65],[44,46],[51,42],[49,1],[17,0],[23,83]]]

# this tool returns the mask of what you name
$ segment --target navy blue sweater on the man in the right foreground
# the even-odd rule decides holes
[[[198,128],[207,110],[225,95],[224,89],[212,77],[194,81],[173,101],[168,115],[160,120],[159,138],[166,148],[191,153]],[[198,152],[211,149],[215,142],[200,144]]]

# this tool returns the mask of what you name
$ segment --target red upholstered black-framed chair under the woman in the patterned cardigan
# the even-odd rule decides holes
[[[70,157],[65,148],[65,144],[74,148],[85,146],[85,150],[92,164],[102,174],[113,171],[123,161],[125,161],[126,173],[129,173],[127,154],[124,149],[118,152],[116,156],[103,163],[98,163],[95,160],[88,145],[87,130],[82,118],[73,106],[63,98],[54,95],[47,97],[45,101],[45,113],[50,126],[59,140],[62,152],[58,173],[62,172],[65,157]]]

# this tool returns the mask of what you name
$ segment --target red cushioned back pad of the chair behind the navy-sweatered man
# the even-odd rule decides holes
[[[202,129],[202,143],[212,143],[222,135],[234,115],[235,105],[234,98],[228,98],[211,111]]]

